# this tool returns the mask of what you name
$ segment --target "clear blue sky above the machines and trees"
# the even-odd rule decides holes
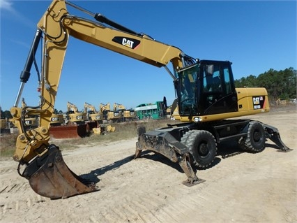
[[[10,110],[20,87],[36,24],[51,1],[0,0],[0,106]],[[274,69],[296,69],[296,1],[73,1],[137,33],[174,45],[191,57],[229,60],[234,79]],[[71,15],[90,15],[67,6]],[[38,48],[37,55],[41,55]],[[172,69],[172,65],[168,65]],[[40,59],[38,69],[41,69]],[[34,67],[22,92],[37,106],[38,75]],[[84,102],[140,103],[175,98],[172,77],[157,68],[70,37],[55,108],[67,102],[79,110]],[[261,86],[265,87],[265,86]],[[20,104],[18,105],[21,106]]]

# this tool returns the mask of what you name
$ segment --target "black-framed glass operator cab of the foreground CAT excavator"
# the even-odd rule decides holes
[[[238,110],[231,62],[201,60],[178,71],[181,116],[214,115]]]

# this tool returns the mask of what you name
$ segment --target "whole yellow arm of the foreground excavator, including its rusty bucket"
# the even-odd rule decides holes
[[[97,21],[70,15],[66,7],[73,6],[91,14]],[[107,27],[105,24],[109,24]],[[65,198],[75,194],[91,192],[95,188],[84,182],[63,163],[59,148],[50,145],[50,122],[70,36],[107,50],[118,52],[153,66],[162,67],[172,62],[174,69],[194,62],[178,48],[167,45],[144,34],[137,34],[98,13],[90,13],[73,3],[54,0],[37,24],[37,31],[29,51],[24,71],[20,75],[21,85],[14,106],[10,109],[13,122],[19,129],[13,158],[26,168],[23,177],[29,179],[31,187],[40,195],[50,198]],[[40,41],[43,45],[42,69],[40,73],[40,104],[36,107],[18,108],[24,84],[29,80],[31,66]],[[175,76],[167,69],[173,78]],[[175,71],[174,71],[175,72]],[[40,125],[36,129],[24,129],[24,113],[38,115]],[[52,169],[51,169],[52,168]],[[54,173],[59,173],[53,176]],[[51,186],[48,186],[51,185]],[[58,189],[59,188],[59,189]],[[63,188],[63,189],[61,189]]]

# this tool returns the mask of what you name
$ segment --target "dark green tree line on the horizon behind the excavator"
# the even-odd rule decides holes
[[[234,80],[235,87],[265,87],[271,102],[296,99],[296,75],[297,70],[292,67],[280,71],[269,69],[268,71],[255,75],[248,75],[239,80]],[[63,113],[56,110],[54,113]],[[1,110],[1,118],[12,118],[9,110]]]

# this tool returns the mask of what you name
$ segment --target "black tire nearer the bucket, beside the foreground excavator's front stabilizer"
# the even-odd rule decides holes
[[[217,143],[213,134],[205,130],[190,130],[181,138],[192,154],[192,164],[206,168],[213,163],[217,154]]]

